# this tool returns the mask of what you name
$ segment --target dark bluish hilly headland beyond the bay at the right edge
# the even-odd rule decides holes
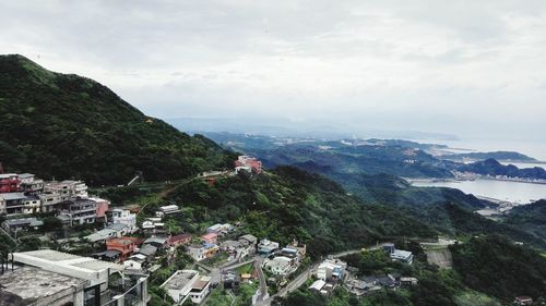
[[[534,167],[520,169],[513,164],[505,166],[492,158],[468,164],[461,164],[458,167],[458,170],[484,175],[506,175],[508,178],[546,180],[546,170],[543,168]]]

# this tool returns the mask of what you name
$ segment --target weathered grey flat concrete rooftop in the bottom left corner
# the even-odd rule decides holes
[[[74,287],[83,289],[88,281],[43,270],[36,267],[15,266],[0,276],[0,304],[23,299],[27,305],[45,297],[72,296]],[[9,296],[11,295],[11,297]],[[19,298],[17,298],[19,297]],[[4,301],[11,298],[11,302]]]

